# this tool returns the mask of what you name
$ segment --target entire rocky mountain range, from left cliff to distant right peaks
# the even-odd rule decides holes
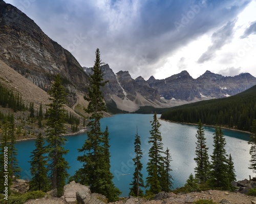
[[[70,107],[78,105],[81,96],[87,94],[92,69],[82,67],[32,19],[3,0],[0,0],[0,44],[0,60],[42,90],[49,90],[53,76],[60,73]],[[128,71],[115,74],[109,64],[102,63],[101,69],[103,79],[108,80],[102,88],[106,103],[130,112],[140,106],[172,107],[228,97],[256,84],[256,78],[249,73],[225,77],[206,71],[194,79],[182,71],[166,79],[151,76],[145,80],[141,76],[133,79]]]

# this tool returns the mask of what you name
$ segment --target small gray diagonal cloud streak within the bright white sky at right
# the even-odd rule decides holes
[[[235,22],[236,20],[227,22],[225,26],[212,34],[212,44],[208,47],[207,51],[203,53],[198,59],[198,63],[203,63],[205,61],[213,59],[216,55],[217,50],[220,50],[225,44],[231,42]]]

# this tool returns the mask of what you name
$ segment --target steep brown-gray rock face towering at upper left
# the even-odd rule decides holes
[[[88,76],[69,51],[50,39],[27,15],[3,1],[0,33],[0,59],[40,88],[48,90],[57,73],[65,85],[73,87],[71,91],[84,90],[88,84]]]

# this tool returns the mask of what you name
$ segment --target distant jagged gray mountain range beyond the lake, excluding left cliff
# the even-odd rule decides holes
[[[92,68],[83,67],[92,74]],[[233,96],[256,84],[256,78],[249,73],[227,77],[206,71],[197,79],[187,71],[166,79],[148,80],[139,76],[133,79],[128,71],[114,73],[109,64],[101,66],[103,79],[109,82],[103,88],[107,102],[114,101],[117,108],[134,111],[140,106],[172,107],[201,100]]]

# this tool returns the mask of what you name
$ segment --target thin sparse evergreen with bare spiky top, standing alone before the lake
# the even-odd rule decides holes
[[[138,135],[138,128],[137,128],[137,133],[135,135],[135,142],[134,142],[134,152],[135,152],[135,157],[133,158],[134,166],[135,166],[135,171],[133,174],[133,181],[132,181],[132,188],[130,188],[130,195],[132,196],[143,196],[143,191],[141,188],[144,187],[144,182],[143,182],[143,175],[141,173],[142,170],[142,163],[141,163],[141,158],[142,158],[142,150],[141,150],[141,141],[140,141],[140,136]]]

